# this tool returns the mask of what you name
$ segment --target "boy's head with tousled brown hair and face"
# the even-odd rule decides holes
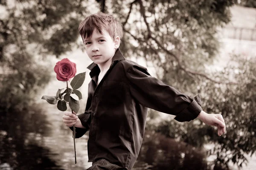
[[[96,64],[109,61],[119,48],[122,25],[111,15],[99,12],[86,17],[79,25],[79,34],[90,59]]]

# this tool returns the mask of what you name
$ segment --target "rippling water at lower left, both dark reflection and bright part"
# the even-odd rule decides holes
[[[55,105],[33,105],[26,111],[0,111],[0,170],[84,170],[87,138],[76,140],[63,125]],[[54,113],[57,111],[58,113]],[[79,149],[81,148],[81,149]]]

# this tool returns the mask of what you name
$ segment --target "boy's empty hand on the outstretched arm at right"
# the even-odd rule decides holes
[[[218,127],[218,136],[226,133],[226,125],[221,114],[208,114],[204,111],[201,111],[198,115],[198,118],[207,125]]]

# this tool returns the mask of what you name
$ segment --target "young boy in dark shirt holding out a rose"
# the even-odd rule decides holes
[[[86,17],[79,26],[85,50],[93,61],[87,68],[91,81],[85,113],[65,112],[63,122],[76,138],[87,130],[88,170],[131,170],[143,141],[147,108],[175,115],[179,122],[198,117],[225,133],[220,114],[202,111],[200,98],[191,99],[151,77],[143,66],[126,60],[119,50],[122,25],[101,12]]]

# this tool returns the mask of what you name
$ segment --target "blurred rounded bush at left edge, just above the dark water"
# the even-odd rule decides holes
[[[2,75],[0,85],[0,110],[23,110],[30,105],[38,91],[49,82],[50,71],[45,65],[35,64],[35,58],[26,54],[12,54],[12,62],[9,62],[9,70]]]

